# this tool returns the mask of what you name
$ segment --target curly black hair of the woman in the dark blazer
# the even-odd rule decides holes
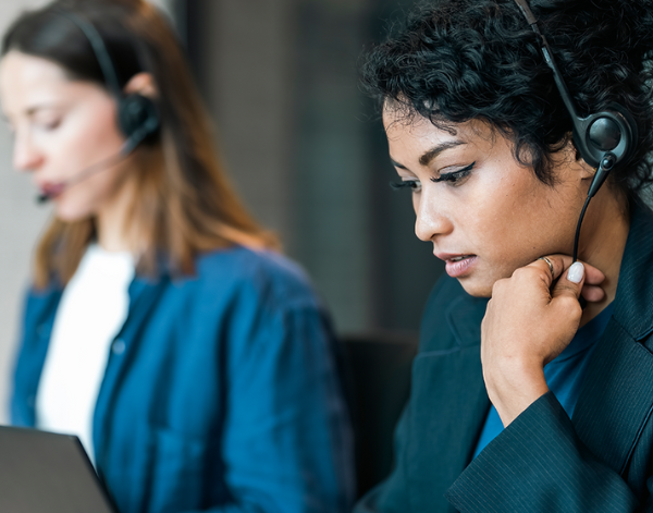
[[[637,195],[653,183],[653,0],[529,3],[578,113],[618,102],[634,118],[637,149],[612,180]],[[570,141],[572,124],[540,48],[514,0],[431,1],[365,57],[362,85],[381,108],[393,102],[445,130],[489,122],[552,184],[552,156]]]

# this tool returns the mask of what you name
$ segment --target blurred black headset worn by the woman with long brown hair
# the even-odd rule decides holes
[[[64,16],[74,23],[88,39],[93,52],[100,65],[100,70],[102,71],[104,84],[118,102],[118,123],[126,139],[118,155],[82,170],[78,174],[73,176],[72,180],[61,184],[57,191],[40,194],[37,197],[38,203],[49,201],[71,185],[124,160],[140,143],[153,139],[158,136],[161,127],[159,110],[152,99],[140,94],[125,95],[121,89],[111,56],[107,50],[102,36],[100,36],[100,33],[95,25],[82,15],[65,8],[57,8],[52,10],[52,13]]]

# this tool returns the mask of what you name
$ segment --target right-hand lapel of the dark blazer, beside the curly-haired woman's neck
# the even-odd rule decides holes
[[[653,215],[632,209],[615,308],[592,355],[572,422],[580,439],[624,474],[653,408]]]

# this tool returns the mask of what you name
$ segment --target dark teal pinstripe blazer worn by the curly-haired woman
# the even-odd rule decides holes
[[[631,211],[614,312],[569,419],[535,401],[470,463],[490,401],[480,361],[485,300],[435,286],[396,466],[356,512],[653,511],[653,212]]]

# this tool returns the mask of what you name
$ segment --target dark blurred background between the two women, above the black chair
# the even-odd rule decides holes
[[[414,234],[361,54],[415,0],[173,0],[236,188],[341,333],[415,333],[443,266]]]

